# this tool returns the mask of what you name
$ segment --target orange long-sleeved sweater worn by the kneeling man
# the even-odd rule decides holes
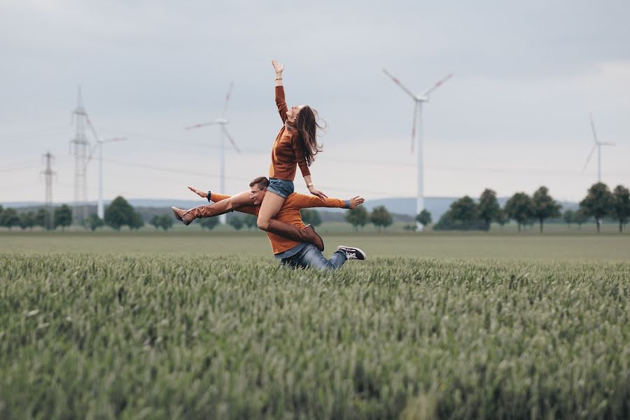
[[[214,202],[225,200],[226,198],[230,198],[230,195],[215,193],[211,193],[210,195],[210,200]],[[276,219],[276,221],[290,223],[291,225],[295,225],[299,228],[304,228],[304,222],[302,221],[300,209],[305,209],[307,207],[344,208],[346,207],[346,202],[344,200],[339,200],[338,198],[327,198],[325,200],[321,200],[321,198],[314,195],[293,193],[286,197],[286,200],[284,200],[284,204],[282,204],[280,211],[278,212],[278,214],[276,214],[276,217],[274,217],[274,219]],[[238,207],[235,210],[241,211],[241,213],[248,213],[258,216],[260,206],[244,206]],[[267,232],[267,237],[269,237],[269,242],[271,243],[274,254],[281,253],[283,251],[286,251],[287,249],[293,248],[293,246],[302,243],[287,239],[286,237],[281,237],[280,235],[276,235],[271,232]]]

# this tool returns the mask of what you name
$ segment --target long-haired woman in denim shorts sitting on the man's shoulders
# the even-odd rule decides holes
[[[272,148],[272,162],[269,166],[269,187],[265,199],[260,206],[258,214],[258,228],[267,232],[276,233],[296,241],[311,242],[321,247],[321,238],[310,227],[299,229],[288,223],[272,220],[282,207],[286,197],[293,193],[293,179],[297,167],[304,177],[304,182],[312,195],[322,199],[327,196],[316,190],[311,180],[309,166],[315,159],[315,155],[321,152],[321,146],[317,144],[317,129],[323,127],[317,123],[317,113],[307,105],[286,106],[284,99],[284,87],[282,85],[282,71],[284,64],[272,60],[276,73],[276,105],[282,119],[283,127],[276,136]],[[176,218],[188,225],[195,218],[217,216],[227,213],[237,207],[251,205],[249,191],[233,195],[228,200],[222,200],[215,204],[200,206],[184,211],[172,207]]]

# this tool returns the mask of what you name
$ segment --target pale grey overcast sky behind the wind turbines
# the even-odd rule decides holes
[[[281,6],[280,6],[281,4]],[[630,2],[13,1],[0,2],[0,202],[41,201],[41,155],[55,155],[55,202],[73,200],[71,111],[106,144],[104,196],[194,198],[218,190],[221,116],[242,153],[226,189],[267,174],[281,127],[270,60],[288,104],[328,123],[311,167],[330,196],[412,197],[414,92],[448,73],[424,106],[425,194],[500,196],[549,187],[577,201],[596,181],[630,186]],[[89,137],[92,140],[92,137]],[[97,162],[87,174],[97,198]],[[298,192],[305,192],[298,172]]]

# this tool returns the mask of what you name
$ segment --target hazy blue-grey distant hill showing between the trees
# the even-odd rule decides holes
[[[426,197],[424,199],[425,207],[433,216],[433,221],[437,221],[450,207],[451,203],[458,200],[458,197]],[[498,197],[498,202],[503,207],[508,197]],[[137,211],[144,216],[146,220],[150,219],[153,214],[164,214],[170,211],[171,206],[180,207],[181,209],[190,209],[190,207],[201,206],[206,204],[206,200],[170,200],[170,199],[149,199],[149,198],[132,198],[127,200]],[[1,202],[3,207],[13,207],[20,211],[36,211],[43,207],[43,202]],[[62,203],[55,203],[60,205]],[[109,201],[105,202],[107,206]],[[577,209],[578,204],[575,202],[560,202],[563,210]],[[90,213],[96,213],[96,203],[87,204]],[[371,211],[374,207],[385,206],[393,215],[394,221],[412,222],[416,213],[416,199],[411,197],[393,197],[381,198],[377,200],[369,200],[365,202],[365,208]],[[318,209],[321,211],[323,221],[343,221],[343,209]]]

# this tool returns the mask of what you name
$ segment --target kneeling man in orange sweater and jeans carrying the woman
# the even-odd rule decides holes
[[[269,180],[265,178],[265,176],[259,176],[251,181],[249,184],[251,188],[249,197],[253,205],[238,207],[235,210],[241,211],[242,213],[258,215],[262,199],[265,198],[265,193],[267,193],[267,186],[269,186]],[[211,193],[211,191],[200,191],[192,187],[188,188],[200,197],[207,198],[209,202],[219,202],[230,198],[229,195]],[[275,218],[281,222],[295,225],[297,228],[304,228],[300,209],[308,207],[341,207],[354,209],[360,204],[363,204],[364,201],[362,197],[353,197],[350,200],[344,201],[336,198],[321,199],[314,195],[293,193],[286,198]],[[179,216],[177,212],[175,212],[175,215],[176,217]],[[328,260],[314,244],[294,241],[293,239],[287,239],[286,237],[276,235],[272,232],[267,232],[267,237],[269,237],[274,255],[280,260],[281,265],[288,265],[293,268],[313,267],[317,269],[339,269],[344,265],[346,260],[365,260],[365,253],[359,248],[351,246],[339,246],[337,251],[332,253],[332,256]]]

